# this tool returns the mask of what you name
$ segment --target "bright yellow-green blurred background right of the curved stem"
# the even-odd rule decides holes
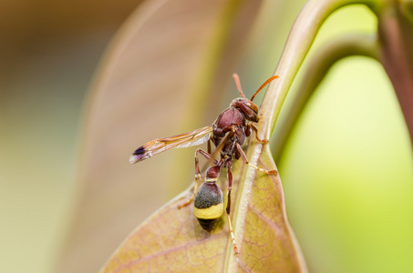
[[[365,6],[349,6],[325,22],[315,47],[376,29]],[[352,56],[332,67],[278,166],[310,271],[413,271],[412,149],[377,61]]]

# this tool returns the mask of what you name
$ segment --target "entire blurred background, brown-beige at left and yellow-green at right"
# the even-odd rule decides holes
[[[88,85],[110,38],[138,3],[2,5],[0,272],[53,270],[79,198]],[[256,88],[253,78],[274,71],[284,45],[276,37],[287,35],[304,1],[265,5],[253,34],[262,39],[239,61],[249,75],[242,79],[247,90]],[[285,25],[269,24],[274,13]],[[326,21],[315,50],[332,37],[376,29],[366,7],[346,7]],[[337,63],[277,162],[310,271],[413,272],[412,165],[408,131],[383,68],[366,57]]]

